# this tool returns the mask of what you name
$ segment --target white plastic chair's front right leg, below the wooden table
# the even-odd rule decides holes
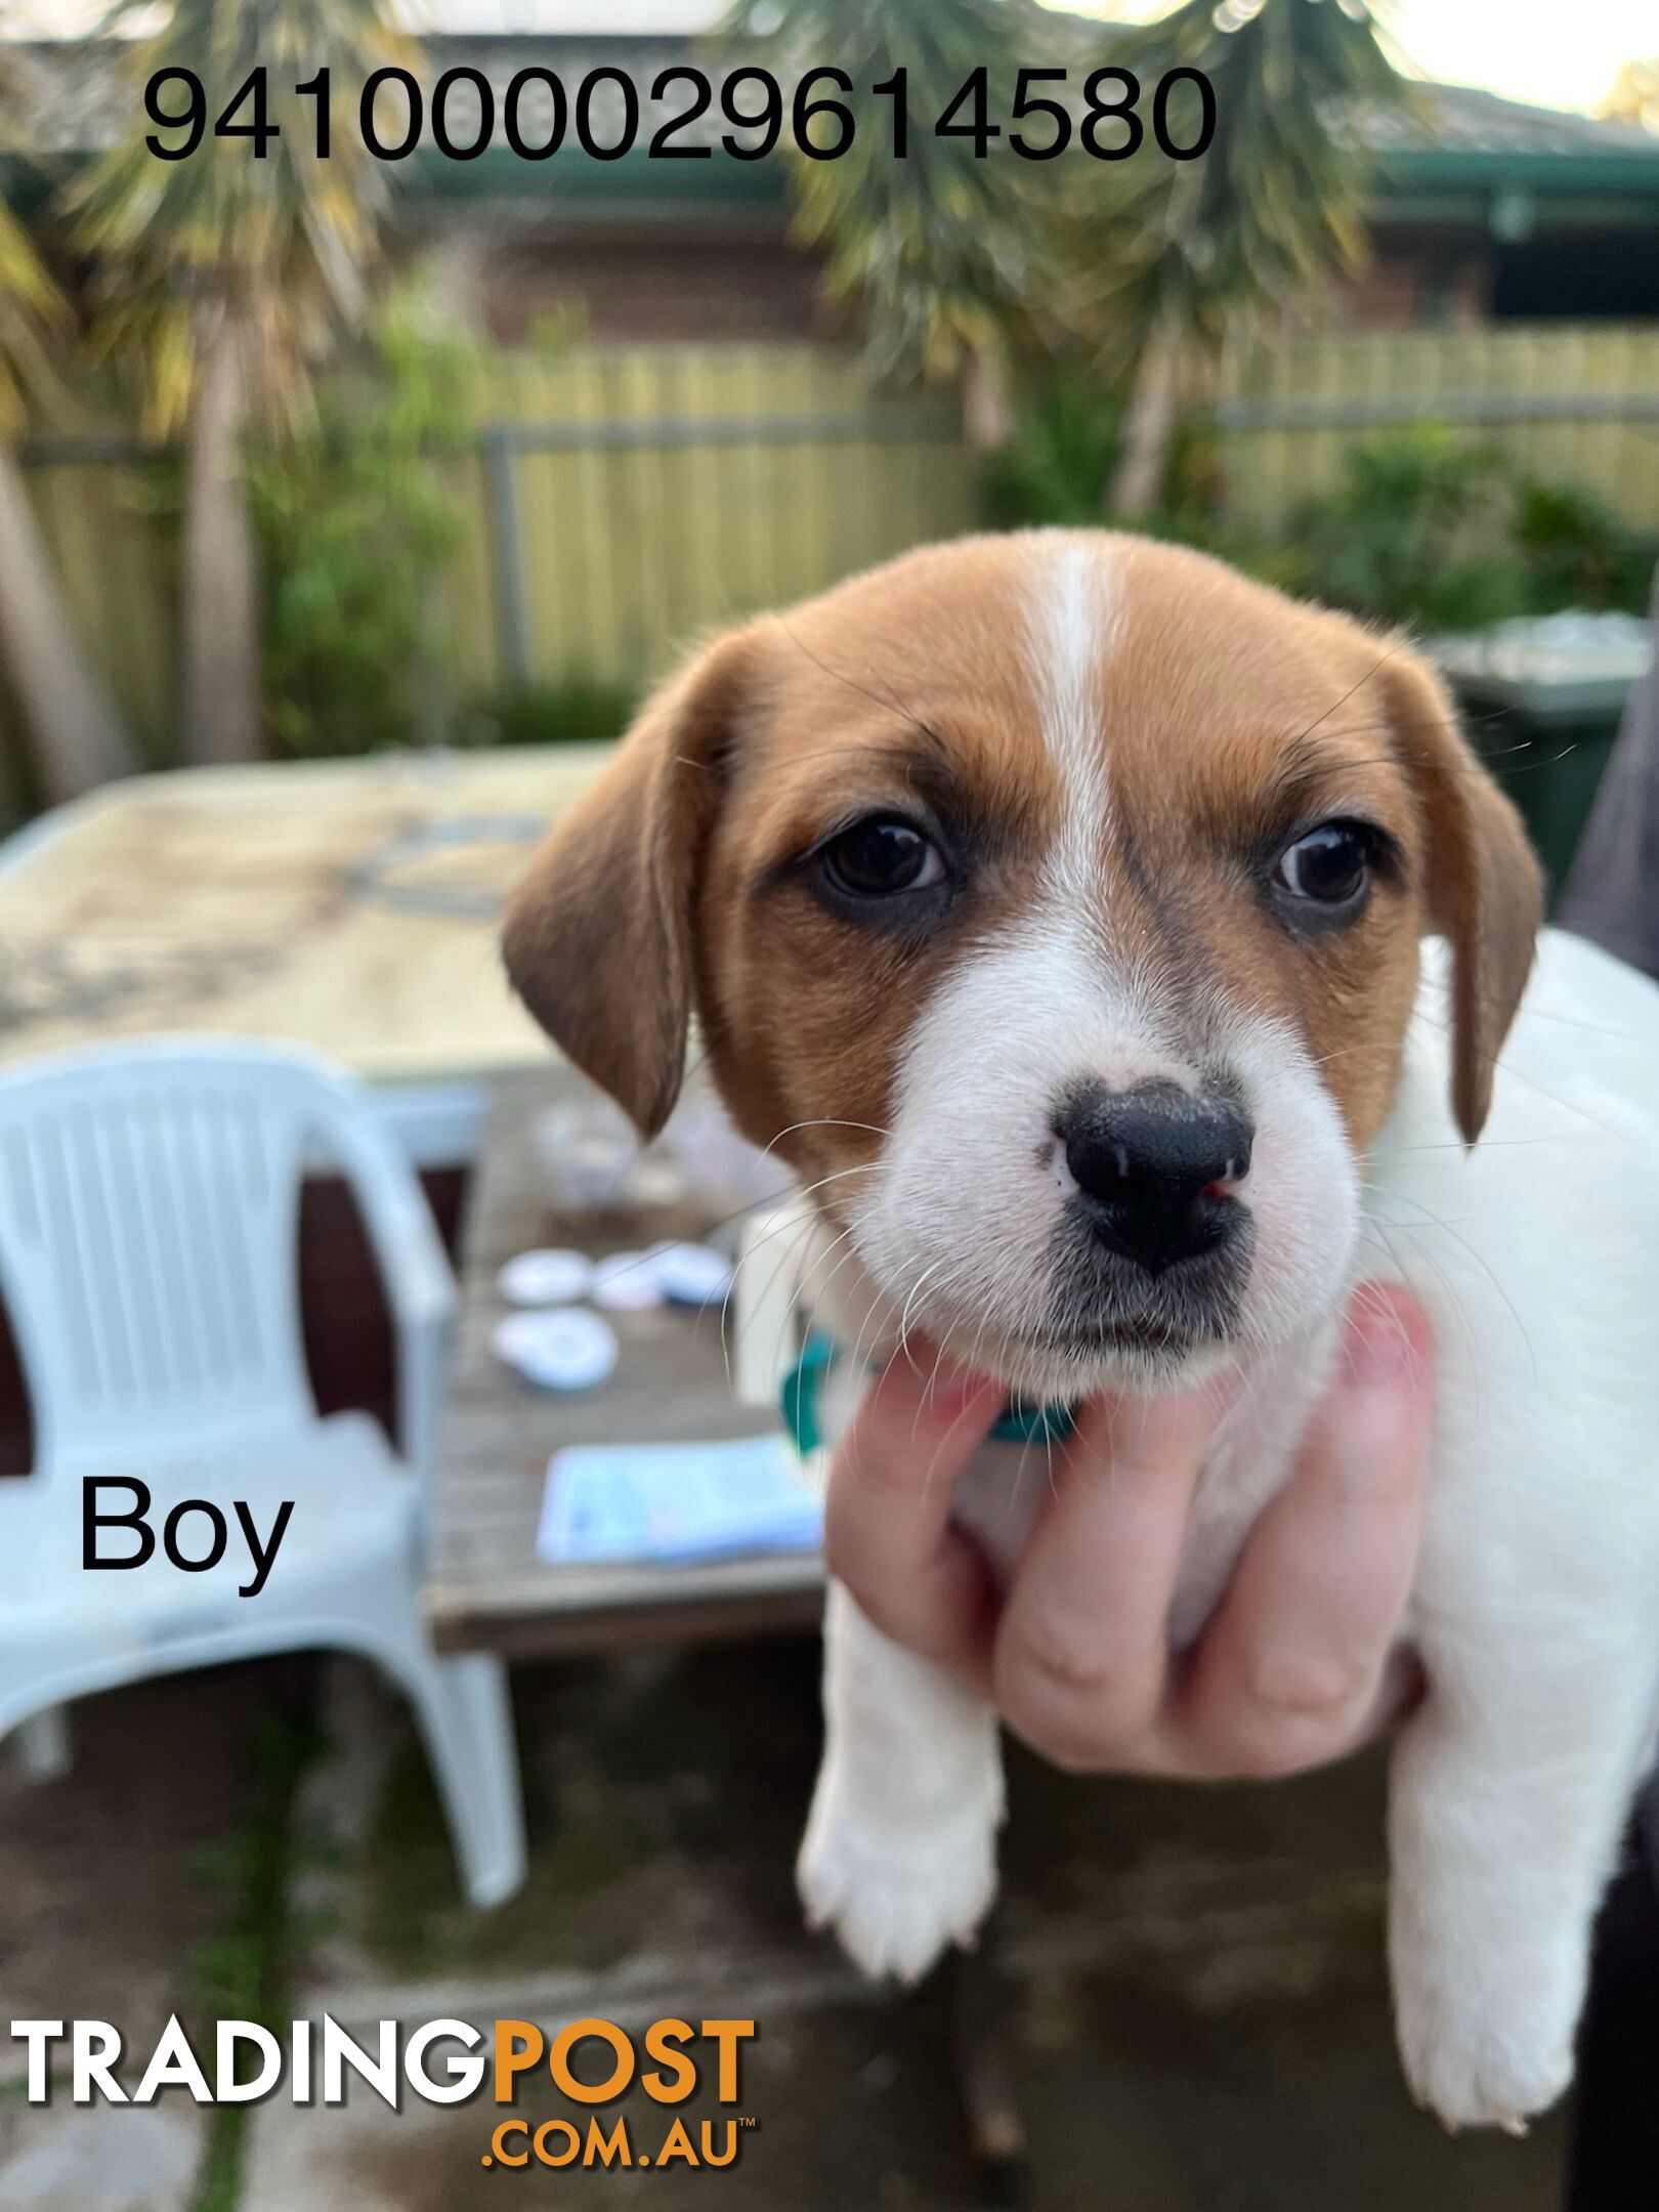
[[[407,1679],[471,1905],[524,1882],[524,1794],[507,1668],[484,1652],[427,1657]]]

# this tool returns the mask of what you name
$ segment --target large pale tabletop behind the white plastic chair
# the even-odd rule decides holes
[[[502,975],[502,898],[611,750],[186,768],[60,807],[0,847],[0,1064],[234,1031],[387,1095],[467,1086],[476,1128],[482,1077],[546,1062]]]

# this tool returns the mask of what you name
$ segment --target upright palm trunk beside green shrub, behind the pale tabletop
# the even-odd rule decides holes
[[[257,761],[259,568],[241,480],[248,389],[230,316],[215,316],[199,361],[184,491],[184,757]]]

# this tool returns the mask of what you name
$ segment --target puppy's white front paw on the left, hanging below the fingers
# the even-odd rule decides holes
[[[918,1982],[969,1944],[995,1896],[995,1807],[911,1825],[856,1807],[823,1781],[794,1869],[810,1927],[827,1927],[872,1978]]]

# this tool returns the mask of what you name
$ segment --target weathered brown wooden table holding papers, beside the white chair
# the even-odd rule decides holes
[[[535,1657],[807,1628],[823,1599],[816,1555],[703,1566],[546,1566],[535,1557],[546,1462],[562,1444],[710,1442],[776,1427],[774,1413],[739,1405],[717,1307],[608,1316],[617,1371],[582,1396],[540,1391],[495,1358],[491,1332],[509,1312],[495,1274],[515,1252],[577,1243],[597,1256],[710,1228],[706,1208],[586,1221],[553,1212],[533,1128],[577,1082],[553,1064],[491,1086],[462,1221],[460,1329],[436,1471],[434,1635],[447,1650]]]

